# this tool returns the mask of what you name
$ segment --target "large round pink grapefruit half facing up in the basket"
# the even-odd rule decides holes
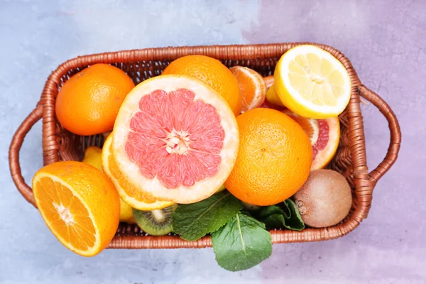
[[[234,168],[239,148],[226,101],[184,75],[138,84],[121,105],[112,137],[116,163],[131,184],[183,204],[213,195]]]

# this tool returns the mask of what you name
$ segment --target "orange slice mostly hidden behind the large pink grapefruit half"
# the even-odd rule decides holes
[[[151,211],[173,205],[173,202],[170,201],[156,200],[151,194],[134,187],[128,180],[126,180],[126,178],[124,178],[114,159],[114,155],[112,154],[111,142],[112,136],[110,135],[102,148],[102,168],[109,178],[111,178],[112,182],[114,182],[121,199],[131,207],[138,210]]]

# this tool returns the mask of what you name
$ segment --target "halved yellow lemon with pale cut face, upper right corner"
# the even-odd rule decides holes
[[[314,45],[298,45],[284,53],[274,77],[275,92],[285,107],[312,119],[338,116],[351,97],[346,68]]]

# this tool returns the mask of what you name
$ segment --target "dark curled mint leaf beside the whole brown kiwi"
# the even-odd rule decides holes
[[[283,226],[295,231],[305,229],[305,224],[295,202],[293,200],[285,200],[283,205],[285,209],[278,205],[271,205],[261,209],[258,219],[265,223],[266,229],[276,229]]]

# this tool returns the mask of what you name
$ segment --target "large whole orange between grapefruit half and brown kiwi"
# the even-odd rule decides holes
[[[312,146],[302,127],[275,109],[251,109],[236,117],[240,147],[226,189],[249,204],[282,202],[307,180]]]

